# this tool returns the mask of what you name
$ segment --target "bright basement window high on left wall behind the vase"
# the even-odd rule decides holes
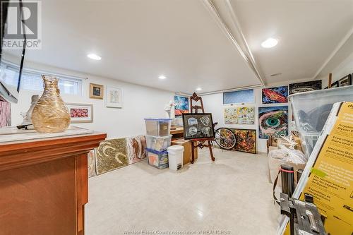
[[[4,73],[1,73],[3,76],[1,76],[0,80],[7,85],[17,87],[18,68],[16,68],[16,65],[4,63],[4,66],[1,66],[1,71],[3,69]],[[25,68],[23,68],[22,71],[20,90],[43,91],[44,84],[42,74],[53,74],[59,78],[59,89],[61,94],[82,95],[82,79],[80,78]]]

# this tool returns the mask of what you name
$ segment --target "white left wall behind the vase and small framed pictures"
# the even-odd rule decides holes
[[[107,133],[108,138],[144,134],[145,123],[143,119],[146,117],[166,117],[166,112],[163,110],[164,104],[167,104],[169,100],[173,100],[174,97],[173,92],[67,71],[41,64],[26,62],[24,68],[88,77],[88,80],[83,80],[82,96],[61,95],[61,97],[64,102],[93,104],[93,123],[74,123],[73,125]],[[90,83],[104,85],[104,89],[106,85],[121,88],[123,90],[124,107],[122,109],[107,108],[104,105],[104,100],[90,99]],[[30,97],[32,95],[41,95],[41,92],[20,90],[18,104],[11,104],[12,126],[16,126],[22,122],[23,119],[20,116],[20,112],[26,112],[28,110],[30,107]]]

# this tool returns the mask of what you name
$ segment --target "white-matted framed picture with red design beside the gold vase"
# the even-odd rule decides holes
[[[66,103],[66,107],[68,108],[68,112],[70,113],[71,123],[93,122],[92,104]]]

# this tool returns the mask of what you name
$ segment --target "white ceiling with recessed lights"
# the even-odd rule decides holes
[[[46,0],[42,49],[28,50],[26,60],[173,92],[213,92],[261,85],[225,29],[249,57],[244,33],[260,77],[275,83],[312,78],[352,25],[350,0]],[[279,38],[277,47],[260,47],[268,37]]]

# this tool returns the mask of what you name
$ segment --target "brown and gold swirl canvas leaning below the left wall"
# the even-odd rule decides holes
[[[127,166],[126,138],[102,141],[96,149],[95,163],[97,174]]]

